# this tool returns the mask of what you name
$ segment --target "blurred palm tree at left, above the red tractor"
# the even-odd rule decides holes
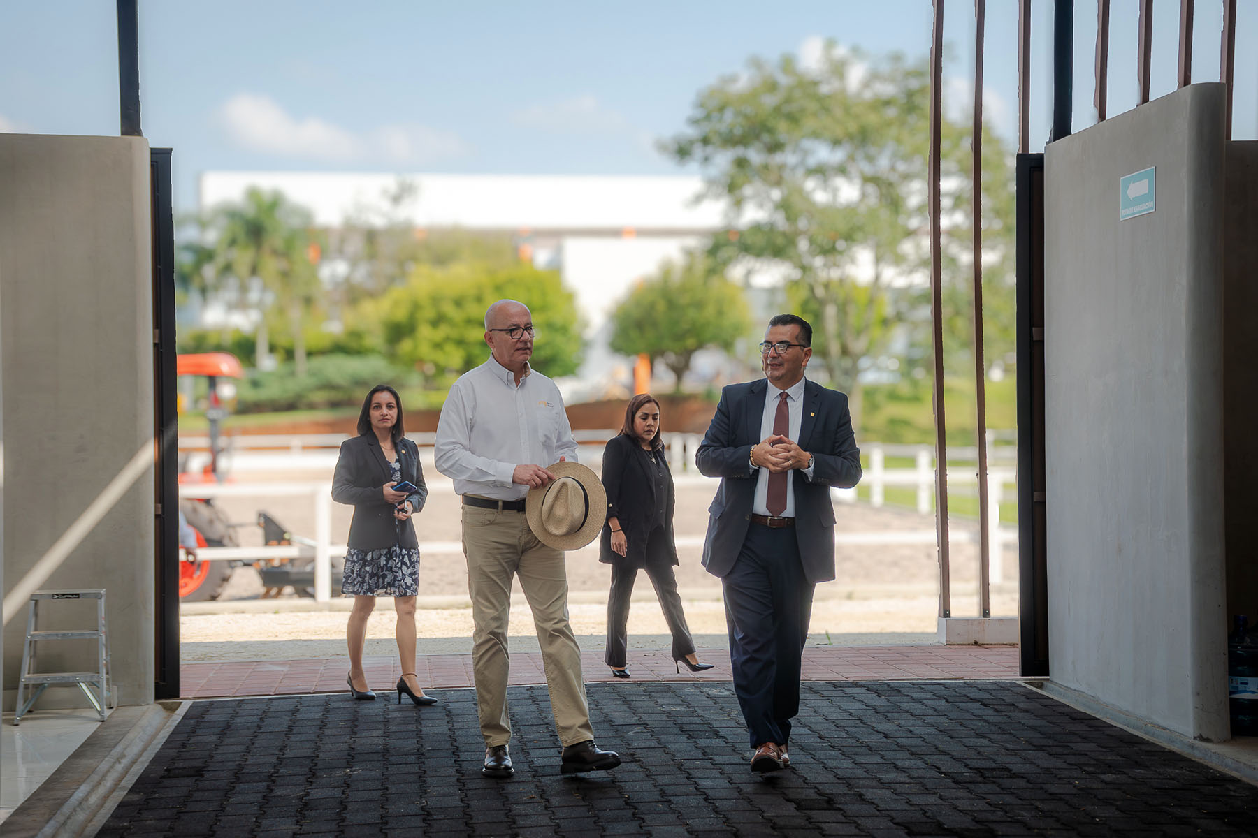
[[[267,314],[278,308],[288,318],[294,342],[294,368],[306,373],[306,344],[302,334],[304,312],[320,297],[322,285],[311,260],[316,244],[311,214],[281,192],[250,188],[244,201],[214,211],[216,236],[213,261],[221,265],[220,280],[235,283],[258,300],[257,359],[269,357]]]

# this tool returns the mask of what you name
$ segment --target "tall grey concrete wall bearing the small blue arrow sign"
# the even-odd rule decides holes
[[[1045,151],[1053,681],[1229,736],[1223,518],[1223,87]],[[1118,181],[1156,167],[1156,210]]]

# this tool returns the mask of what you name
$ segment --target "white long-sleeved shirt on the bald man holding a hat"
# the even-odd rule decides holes
[[[511,481],[516,466],[576,461],[576,440],[554,381],[526,367],[517,386],[489,356],[450,387],[433,454],[457,494],[520,500],[528,486]]]

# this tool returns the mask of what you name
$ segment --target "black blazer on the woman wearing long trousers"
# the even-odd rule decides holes
[[[640,568],[647,563],[647,536],[650,534],[652,510],[655,509],[655,480],[648,472],[644,451],[637,440],[620,433],[608,441],[608,447],[603,451],[603,486],[608,490],[608,518],[615,516],[620,521],[620,529],[625,531],[629,549],[625,555],[620,555],[611,549],[611,525],[604,524],[603,536],[599,540],[599,562],[606,564],[624,564],[625,567]],[[657,457],[664,456],[660,451]],[[673,475],[668,472],[668,461],[664,461],[664,472],[668,481],[673,481]],[[653,562],[660,558],[677,564],[677,544],[673,539],[673,508],[676,495],[669,498],[669,504],[664,509],[665,550],[664,557],[650,557]]]

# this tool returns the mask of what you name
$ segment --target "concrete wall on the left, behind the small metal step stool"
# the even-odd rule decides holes
[[[31,588],[106,588],[118,701],[152,701],[148,181],[142,138],[0,134],[6,710]],[[86,602],[45,613],[96,622]],[[39,668],[92,670],[89,646],[44,643]],[[50,688],[36,707],[65,702],[86,706]]]

